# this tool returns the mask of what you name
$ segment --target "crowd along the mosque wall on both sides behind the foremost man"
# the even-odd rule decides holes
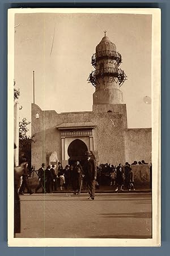
[[[147,165],[144,160],[134,161],[131,165]],[[124,189],[135,190],[134,186],[134,174],[131,169],[130,163],[126,162],[123,166],[121,163],[118,166],[111,165],[110,163],[101,163],[96,167],[96,179],[95,188],[99,189],[100,186],[113,186],[115,191]],[[42,163],[41,168],[36,171],[37,177],[39,178],[39,185],[36,187],[35,192],[42,188],[44,193],[52,193],[57,190],[71,189],[74,194],[79,194],[80,189],[86,190],[87,186],[87,175],[86,165],[80,164],[76,161],[72,165],[66,165],[65,168],[58,162],[57,169],[54,169],[54,165],[48,166],[45,169],[45,164]],[[35,171],[32,166],[32,171]],[[23,175],[23,182],[19,189],[19,194],[24,194],[24,189],[27,188],[29,194],[33,194],[33,191],[28,186],[27,174]]]

